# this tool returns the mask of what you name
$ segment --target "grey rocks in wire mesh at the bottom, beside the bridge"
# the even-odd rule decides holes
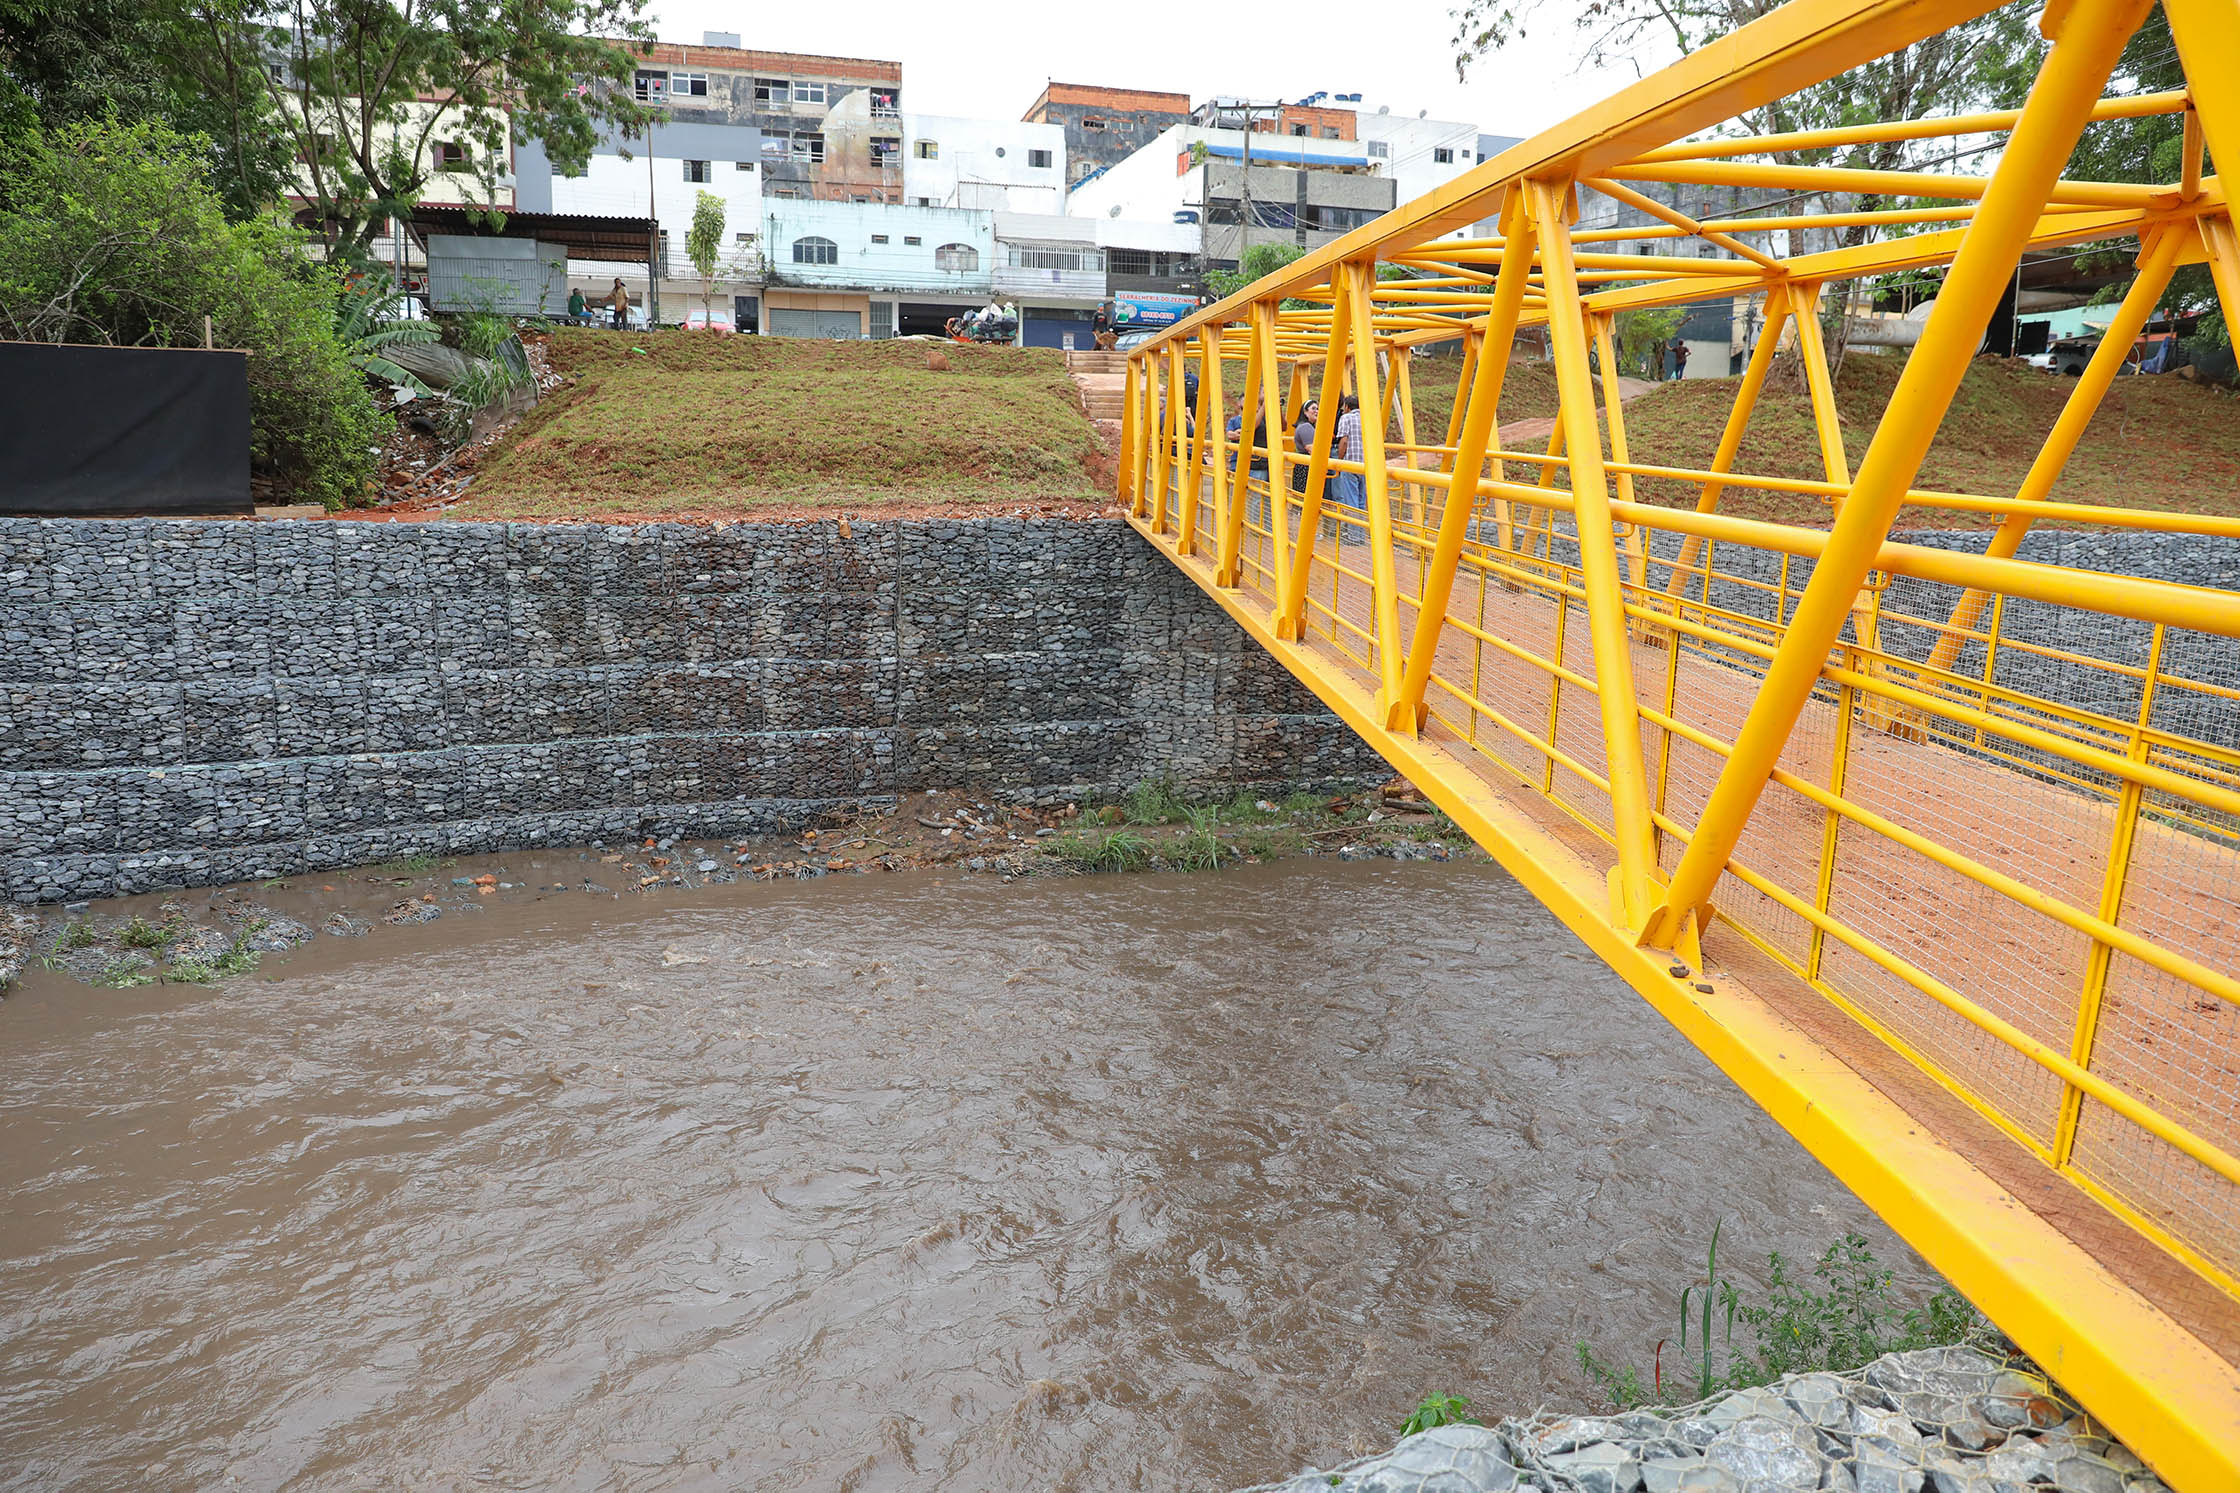
[[[1243,1493],[2168,1493],[2020,1359],[1969,1348],[1698,1406],[1440,1426]]]

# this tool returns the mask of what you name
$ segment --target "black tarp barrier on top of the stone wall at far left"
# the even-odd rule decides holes
[[[249,358],[0,342],[0,513],[251,513]]]

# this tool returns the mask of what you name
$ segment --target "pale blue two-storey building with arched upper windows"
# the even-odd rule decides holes
[[[766,197],[762,210],[766,334],[939,334],[992,293],[990,213],[813,197]]]

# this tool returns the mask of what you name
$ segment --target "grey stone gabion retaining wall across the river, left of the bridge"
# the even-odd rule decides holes
[[[18,902],[1382,770],[1118,522],[0,519]]]

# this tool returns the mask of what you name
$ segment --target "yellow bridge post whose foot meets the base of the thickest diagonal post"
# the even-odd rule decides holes
[[[1655,842],[1649,821],[1649,772],[1642,759],[1642,707],[1633,689],[1633,645],[1626,633],[1626,578],[1617,566],[1611,486],[1602,466],[1595,387],[1586,369],[1586,311],[1570,257],[1570,186],[1525,181],[1539,233],[1541,280],[1548,287],[1548,336],[1555,345],[1559,423],[1570,448],[1572,524],[1579,530],[1579,575],[1602,707],[1604,768],[1611,779],[1611,830],[1617,839],[1611,913],[1640,927],[1651,907]],[[1508,269],[1503,255],[1503,269]]]

